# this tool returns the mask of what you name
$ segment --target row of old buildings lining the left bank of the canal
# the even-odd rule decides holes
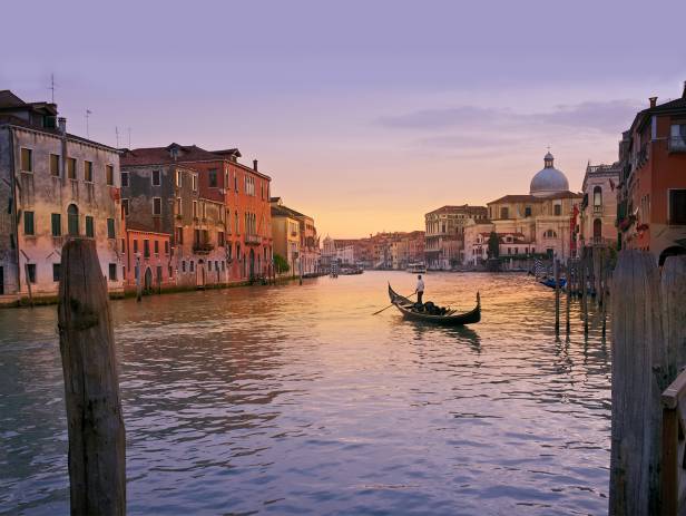
[[[112,293],[317,273],[314,220],[273,197],[237,148],[117,149],[67,132],[57,105],[0,91],[0,304],[53,296],[69,236],[96,241]],[[275,256],[284,264],[274,270]]]

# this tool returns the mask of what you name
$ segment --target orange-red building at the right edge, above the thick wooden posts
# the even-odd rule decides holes
[[[617,224],[621,245],[651,252],[659,264],[686,254],[686,84],[682,97],[650,98],[619,146]]]

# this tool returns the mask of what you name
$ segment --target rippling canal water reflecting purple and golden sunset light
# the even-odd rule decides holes
[[[404,272],[112,303],[128,512],[604,514],[610,350],[519,274],[429,273],[482,322],[403,321]],[[0,311],[0,514],[68,514],[56,308]]]

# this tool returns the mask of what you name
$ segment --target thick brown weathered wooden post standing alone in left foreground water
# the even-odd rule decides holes
[[[59,333],[69,432],[71,514],[126,514],[126,437],[115,338],[96,245],[62,249]]]

